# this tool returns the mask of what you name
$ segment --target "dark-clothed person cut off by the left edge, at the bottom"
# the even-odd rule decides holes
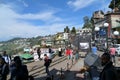
[[[5,62],[4,58],[0,58],[0,80],[7,80],[7,75],[9,74],[9,66]]]

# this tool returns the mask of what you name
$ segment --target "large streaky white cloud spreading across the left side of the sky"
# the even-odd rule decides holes
[[[63,26],[68,24],[60,23],[61,18],[55,16],[54,11],[39,12],[36,14],[18,14],[11,6],[0,4],[0,41],[13,37],[34,37],[36,35],[54,34],[63,31]],[[36,26],[32,22],[19,20],[40,20],[49,24]]]

